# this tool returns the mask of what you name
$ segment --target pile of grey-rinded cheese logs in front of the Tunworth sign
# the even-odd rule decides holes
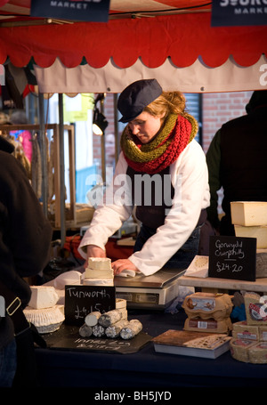
[[[121,337],[132,339],[142,330],[139,320],[127,320],[126,300],[117,298],[116,309],[109,312],[90,312],[85,317],[85,323],[79,328],[83,337]]]

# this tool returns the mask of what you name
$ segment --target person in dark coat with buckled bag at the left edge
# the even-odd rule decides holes
[[[44,217],[24,168],[12,156],[13,149],[12,143],[0,136],[1,387],[12,386],[14,382],[35,384],[35,363],[30,350],[33,341],[22,312],[31,292],[24,278],[44,269],[49,262],[52,239],[52,227]],[[24,363],[21,356],[25,356]]]

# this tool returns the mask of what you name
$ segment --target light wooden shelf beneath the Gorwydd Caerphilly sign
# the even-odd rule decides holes
[[[243,281],[239,279],[216,279],[211,277],[198,278],[182,276],[178,279],[180,286],[198,287],[207,290],[245,290],[255,292],[267,292],[267,278],[255,281]]]

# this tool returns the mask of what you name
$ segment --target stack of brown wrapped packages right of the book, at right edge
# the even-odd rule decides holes
[[[233,324],[231,355],[249,363],[267,363],[267,297],[245,293],[247,320]]]

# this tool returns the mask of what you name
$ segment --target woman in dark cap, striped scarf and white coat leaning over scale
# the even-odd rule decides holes
[[[200,226],[210,198],[206,157],[194,140],[197,121],[186,113],[182,93],[164,92],[156,79],[128,85],[117,108],[120,121],[127,123],[122,152],[106,203],[96,209],[79,252],[85,259],[105,257],[109,237],[136,205],[142,228],[134,254],[113,262],[114,274],[132,270],[148,276],[164,266],[185,269],[198,254]],[[150,180],[151,187],[138,187],[141,176]],[[122,178],[125,201],[116,200]]]

